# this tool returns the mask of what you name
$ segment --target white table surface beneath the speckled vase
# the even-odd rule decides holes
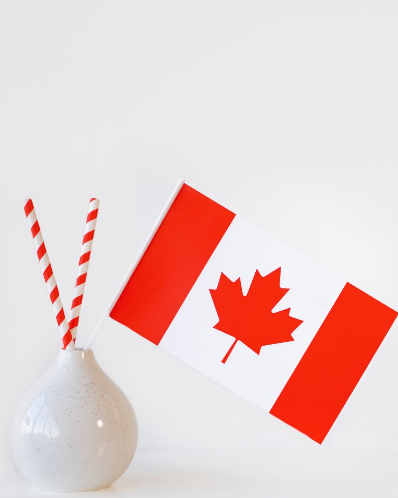
[[[141,451],[105,497],[398,497],[398,452]],[[65,497],[2,473],[1,498]],[[73,497],[87,497],[74,493]]]

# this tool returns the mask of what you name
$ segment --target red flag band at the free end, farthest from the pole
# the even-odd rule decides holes
[[[321,443],[397,315],[347,283],[270,413]]]

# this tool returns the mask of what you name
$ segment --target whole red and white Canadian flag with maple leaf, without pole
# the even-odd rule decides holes
[[[321,443],[397,314],[184,184],[110,317]]]

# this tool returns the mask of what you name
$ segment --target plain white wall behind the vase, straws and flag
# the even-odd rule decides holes
[[[84,345],[180,176],[398,306],[393,1],[0,3],[1,410],[59,334],[23,214],[31,196],[66,308],[88,200],[100,215]],[[94,350],[140,449],[395,449],[398,326],[321,449],[129,329]]]

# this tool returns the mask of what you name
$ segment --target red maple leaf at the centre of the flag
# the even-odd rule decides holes
[[[290,289],[280,287],[281,268],[261,276],[256,270],[249,291],[243,295],[240,278],[229,280],[221,273],[216,289],[210,289],[218,315],[214,328],[235,337],[224,356],[225,363],[238,341],[258,355],[262,346],[293,341],[292,332],[302,320],[289,315],[290,308],[272,312]]]

